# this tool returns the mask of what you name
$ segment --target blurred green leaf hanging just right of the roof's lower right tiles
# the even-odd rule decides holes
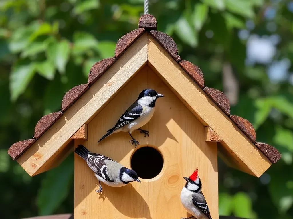
[[[254,112],[253,127],[257,130],[258,127],[261,126],[268,118],[272,107],[270,101],[267,99],[256,99],[254,106],[256,107],[256,110]]]

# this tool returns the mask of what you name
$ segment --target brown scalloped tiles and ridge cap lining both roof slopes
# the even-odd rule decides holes
[[[209,88],[209,87],[205,86],[203,73],[200,70],[200,68],[197,67],[196,65],[193,65],[191,62],[181,60],[180,56],[178,55],[177,45],[174,42],[174,40],[170,36],[168,36],[167,34],[156,30],[156,18],[153,15],[149,15],[149,14],[142,15],[141,18],[139,18],[139,29],[135,29],[135,30],[125,34],[124,36],[122,36],[118,40],[117,45],[116,45],[116,49],[115,49],[115,57],[107,58],[107,59],[101,60],[99,62],[96,62],[88,74],[88,83],[73,87],[73,88],[71,88],[71,90],[67,91],[67,93],[64,95],[63,100],[62,100],[61,110],[59,112],[54,112],[54,113],[51,113],[51,114],[48,114],[48,115],[45,115],[44,117],[42,117],[38,121],[37,125],[35,126],[34,137],[29,140],[23,140],[20,142],[16,142],[15,144],[13,144],[9,148],[8,154],[13,159],[15,159],[15,160],[18,159],[26,150],[28,150],[28,148],[30,148],[30,146],[32,146],[38,139],[40,139],[40,137],[42,135],[44,135],[44,133],[51,126],[53,126],[54,123],[62,117],[62,115],[64,115],[64,113],[67,111],[67,109],[69,109],[69,107],[71,105],[73,105],[74,102],[76,102],[79,99],[79,97],[81,97],[86,91],[91,90],[91,86],[93,86],[93,84],[103,75],[103,73],[105,73],[111,66],[114,67],[114,63],[117,60],[120,60],[120,57],[125,53],[125,51],[127,51],[127,49],[130,48],[130,46],[132,46],[132,44],[134,44],[134,42],[137,41],[137,39],[140,38],[145,32],[148,32],[152,37],[154,37],[154,39],[156,39],[157,42],[159,42],[159,44],[171,55],[171,57],[176,62],[178,62],[178,64],[184,69],[184,71],[190,76],[190,78],[193,79],[193,81],[195,81],[200,86],[200,88],[202,88],[202,90],[219,106],[219,108],[227,116],[229,116],[231,118],[231,120],[241,129],[241,131],[253,142],[253,144],[272,163],[276,163],[280,159],[281,155],[276,148],[274,148],[268,144],[265,144],[265,143],[256,142],[255,130],[254,130],[252,124],[248,120],[246,120],[242,117],[238,117],[238,116],[230,114],[229,100],[223,92],[221,92],[217,89]],[[142,43],[142,45],[140,45],[139,48],[137,48],[136,50],[133,49],[132,52],[142,51],[142,48],[145,46],[144,44],[145,44],[145,42]],[[143,54],[144,53],[145,52],[143,52]],[[145,57],[145,55],[144,55],[144,57]],[[143,65],[146,64],[147,60],[144,60],[145,59],[144,57],[140,59],[139,65],[137,66],[137,69],[132,69],[132,72],[129,75],[129,78],[132,77],[132,74],[134,74],[133,72],[136,72]],[[147,57],[147,54],[146,54],[146,57]],[[129,61],[129,60],[125,60],[124,63],[126,61]],[[123,61],[121,61],[121,62],[123,62]],[[120,68],[122,68],[120,64],[119,64],[119,66],[120,66]],[[122,65],[122,66],[124,66],[124,65]],[[126,67],[127,66],[125,66],[125,68]],[[117,69],[116,69],[116,72],[117,72]],[[121,83],[126,83],[129,78],[122,80]],[[103,82],[105,82],[105,81],[102,81],[100,86],[103,85]],[[122,86],[122,84],[121,84],[121,86]],[[116,91],[113,91],[112,94],[114,95],[115,92]],[[108,98],[108,100],[109,100],[109,98]],[[107,101],[107,100],[105,100],[105,101]],[[80,107],[82,107],[82,106],[83,105],[80,105]],[[65,120],[66,120],[66,118],[65,118]],[[73,135],[73,134],[74,134],[74,132],[71,133],[71,135]],[[70,140],[69,138],[68,138],[68,140]],[[25,160],[19,161],[20,164],[23,164],[24,162],[25,162]],[[34,175],[34,174],[36,174],[36,173],[32,173],[31,175]]]

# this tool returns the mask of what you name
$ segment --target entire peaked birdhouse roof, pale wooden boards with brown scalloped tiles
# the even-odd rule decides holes
[[[222,91],[205,86],[204,74],[200,68],[182,60],[174,40],[166,33],[157,31],[156,25],[156,18],[153,15],[142,15],[139,18],[139,28],[118,40],[115,56],[96,62],[88,74],[88,83],[67,91],[61,103],[61,110],[42,117],[35,126],[34,137],[16,142],[9,148],[8,154],[30,175],[52,168],[52,161],[61,156],[60,154],[65,156],[69,150],[71,136],[83,124],[87,124],[136,72],[144,65],[149,65],[159,74],[177,74],[178,82],[172,81],[172,77],[162,77],[188,108],[195,111],[197,118],[205,126],[211,127],[222,139],[219,151],[224,161],[256,176],[261,175],[271,162],[276,163],[281,157],[278,150],[256,141],[253,125],[242,117],[230,114],[230,104],[226,95]],[[158,60],[154,54],[159,54],[163,58]],[[173,68],[164,70],[163,64],[172,65]],[[180,82],[181,76],[183,81]],[[179,83],[180,86],[175,87]],[[181,93],[184,88],[189,89],[190,96]],[[192,93],[193,90],[195,93]],[[214,112],[219,115],[211,115],[211,112],[204,111],[205,105],[202,103],[192,106],[191,102],[197,101],[197,97],[202,98],[198,101],[204,101],[208,108],[217,109]],[[220,117],[217,124],[213,121],[213,116]],[[231,133],[226,134],[226,130]],[[240,151],[234,145],[239,145]],[[41,155],[44,153],[47,153],[46,156]],[[258,170],[252,170],[251,166],[254,164],[248,164],[249,161],[244,161],[244,158],[240,159],[241,153],[245,154],[244,157],[248,160],[260,160],[261,164],[255,161]]]

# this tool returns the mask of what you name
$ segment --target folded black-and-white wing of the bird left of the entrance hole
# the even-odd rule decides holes
[[[101,154],[88,153],[88,158],[86,159],[86,163],[100,177],[103,177],[105,180],[109,182],[113,182],[114,180],[110,180],[108,176],[108,170],[107,170],[107,165],[105,164],[105,160],[112,160],[112,159],[110,159],[109,157],[105,157]]]

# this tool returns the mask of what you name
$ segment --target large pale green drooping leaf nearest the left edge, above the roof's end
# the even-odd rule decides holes
[[[15,66],[10,74],[9,90],[10,98],[16,101],[21,95],[35,74],[35,66],[33,64]]]

